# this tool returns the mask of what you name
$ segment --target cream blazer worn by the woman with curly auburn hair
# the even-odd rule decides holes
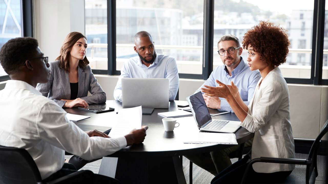
[[[253,99],[248,106],[248,115],[241,126],[255,132],[252,159],[261,156],[295,158],[289,91],[278,67],[270,71],[264,80],[261,78],[258,81]],[[293,164],[253,164],[253,169],[257,173],[292,171],[294,168]]]

